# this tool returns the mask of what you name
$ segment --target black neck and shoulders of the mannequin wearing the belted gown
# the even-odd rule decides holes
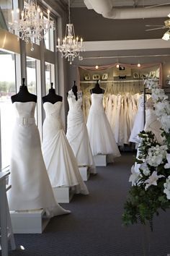
[[[37,95],[29,93],[27,86],[24,85],[24,78],[22,78],[22,85],[19,88],[19,92],[11,97],[12,103],[17,102],[37,102]]]

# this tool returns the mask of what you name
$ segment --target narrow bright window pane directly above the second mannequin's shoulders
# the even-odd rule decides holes
[[[54,76],[54,64],[45,62],[45,90],[48,94],[50,89],[50,83],[53,82],[53,88],[55,88],[55,76]]]

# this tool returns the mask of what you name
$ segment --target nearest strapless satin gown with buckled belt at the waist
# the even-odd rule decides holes
[[[42,158],[40,135],[35,124],[36,103],[14,102],[17,114],[12,135],[8,201],[10,210],[44,208],[48,216],[70,213],[55,201]]]

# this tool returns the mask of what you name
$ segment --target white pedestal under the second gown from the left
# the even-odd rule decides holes
[[[54,197],[57,202],[71,202],[73,189],[71,187],[53,187]]]

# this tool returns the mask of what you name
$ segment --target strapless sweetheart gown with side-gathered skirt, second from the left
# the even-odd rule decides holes
[[[68,143],[61,123],[62,102],[45,102],[42,154],[52,187],[73,187],[76,194],[89,194],[79,173],[73,150]]]

